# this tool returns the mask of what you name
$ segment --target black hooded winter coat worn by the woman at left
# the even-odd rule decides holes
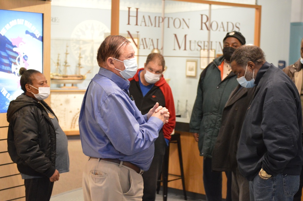
[[[52,109],[41,103],[53,114]],[[51,177],[55,172],[56,133],[43,106],[25,93],[7,111],[8,153],[20,173]]]

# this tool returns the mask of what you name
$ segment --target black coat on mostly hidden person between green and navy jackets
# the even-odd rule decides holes
[[[255,88],[238,85],[229,96],[222,114],[221,128],[212,155],[212,170],[235,171],[242,124]]]

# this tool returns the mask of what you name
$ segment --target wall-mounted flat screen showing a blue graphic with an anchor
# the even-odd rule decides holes
[[[19,69],[43,69],[43,14],[0,9],[0,113],[23,90]],[[43,73],[43,72],[42,72]]]

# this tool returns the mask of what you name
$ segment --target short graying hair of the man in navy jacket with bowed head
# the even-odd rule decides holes
[[[235,61],[239,66],[246,67],[248,61],[256,65],[264,63],[265,54],[260,47],[255,45],[242,45],[231,55],[230,62]]]

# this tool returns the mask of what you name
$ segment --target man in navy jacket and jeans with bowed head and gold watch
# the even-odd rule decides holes
[[[241,86],[256,86],[237,152],[239,170],[249,180],[250,200],[292,201],[303,164],[298,90],[282,70],[266,62],[257,46],[235,50],[231,69]]]

